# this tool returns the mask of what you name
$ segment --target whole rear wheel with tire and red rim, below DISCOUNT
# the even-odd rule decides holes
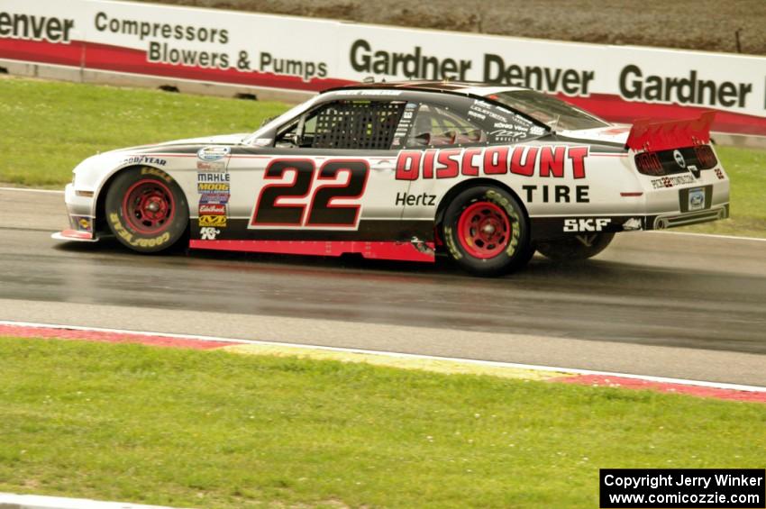
[[[477,276],[498,276],[524,267],[532,257],[524,209],[496,186],[462,191],[447,205],[442,223],[451,258]]]

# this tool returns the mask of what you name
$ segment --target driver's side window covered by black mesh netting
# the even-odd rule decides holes
[[[308,112],[279,132],[277,147],[388,150],[404,102],[335,101]]]

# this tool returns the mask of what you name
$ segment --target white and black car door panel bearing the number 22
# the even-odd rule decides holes
[[[233,227],[220,239],[400,240],[409,182],[395,150],[246,151],[229,164]]]

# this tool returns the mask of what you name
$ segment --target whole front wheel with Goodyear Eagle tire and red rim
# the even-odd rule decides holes
[[[106,223],[131,250],[168,250],[183,237],[189,208],[175,180],[157,168],[130,168],[106,191]]]

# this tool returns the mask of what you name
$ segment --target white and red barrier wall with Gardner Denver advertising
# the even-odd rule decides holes
[[[724,53],[105,0],[0,0],[0,65],[287,100],[366,77],[487,81],[560,95],[617,123],[715,109],[715,131],[766,135],[766,58]]]

